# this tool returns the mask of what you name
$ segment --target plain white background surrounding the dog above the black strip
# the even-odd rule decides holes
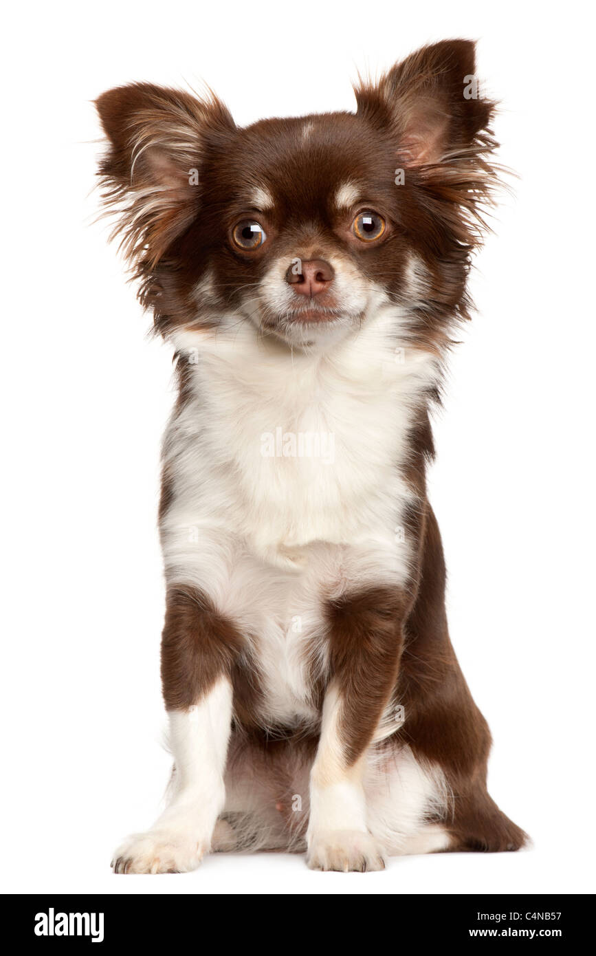
[[[5,12],[2,884],[8,892],[468,893],[594,888],[592,771],[593,31],[567,2],[29,4]],[[495,738],[490,786],[520,854],[394,858],[318,874],[302,857],[207,858],[114,877],[149,825],[161,748],[156,532],[171,356],[143,337],[94,225],[91,100],[206,80],[236,120],[351,109],[356,71],[479,39],[520,179],[478,260],[431,497],[459,661]]]

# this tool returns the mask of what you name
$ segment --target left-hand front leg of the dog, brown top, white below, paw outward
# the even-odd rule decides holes
[[[149,831],[117,849],[115,872],[186,872],[209,851],[223,808],[232,717],[228,673],[236,646],[233,625],[198,591],[169,590],[161,676],[175,764],[173,796]]]

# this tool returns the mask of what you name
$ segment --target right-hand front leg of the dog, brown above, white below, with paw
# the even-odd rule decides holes
[[[366,755],[392,696],[402,645],[399,594],[374,588],[330,604],[331,680],[310,773],[311,869],[382,870],[367,828]]]

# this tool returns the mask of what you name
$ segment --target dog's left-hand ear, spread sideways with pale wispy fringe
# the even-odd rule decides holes
[[[234,121],[215,97],[150,83],[108,90],[96,108],[109,141],[99,176],[118,215],[114,235],[131,262],[153,268],[198,212],[205,141],[229,135]]]

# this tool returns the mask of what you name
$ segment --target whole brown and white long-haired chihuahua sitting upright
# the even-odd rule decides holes
[[[355,113],[238,128],[216,98],[104,93],[100,175],[172,343],[163,444],[169,805],[118,873],[211,850],[516,850],[449,640],[429,411],[496,182],[474,44]]]

